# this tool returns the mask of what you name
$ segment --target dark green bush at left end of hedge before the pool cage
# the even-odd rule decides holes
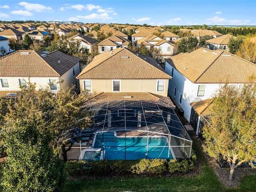
[[[71,160],[64,164],[64,174],[66,176],[79,176],[86,173],[85,169],[86,161]]]

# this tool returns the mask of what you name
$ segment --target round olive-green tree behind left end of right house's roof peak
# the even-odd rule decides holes
[[[182,53],[192,52],[196,48],[196,45],[197,38],[192,36],[189,36],[188,38],[184,37],[178,42],[179,51]]]

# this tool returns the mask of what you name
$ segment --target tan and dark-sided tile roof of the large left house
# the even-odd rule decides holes
[[[64,54],[60,51],[43,54],[34,50],[19,50],[0,58],[0,76],[61,76],[79,60],[80,58]]]

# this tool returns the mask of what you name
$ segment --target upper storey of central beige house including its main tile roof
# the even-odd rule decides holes
[[[167,100],[171,78],[154,58],[127,48],[97,55],[77,76],[90,94],[149,92]]]

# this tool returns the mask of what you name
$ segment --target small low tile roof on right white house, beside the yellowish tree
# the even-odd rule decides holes
[[[197,112],[198,115],[200,116],[209,115],[210,109],[212,108],[211,107],[212,100],[213,99],[211,98],[211,99],[206,99],[202,101],[197,101],[197,102],[190,103],[190,105],[192,106],[192,108],[194,108],[194,110]]]

